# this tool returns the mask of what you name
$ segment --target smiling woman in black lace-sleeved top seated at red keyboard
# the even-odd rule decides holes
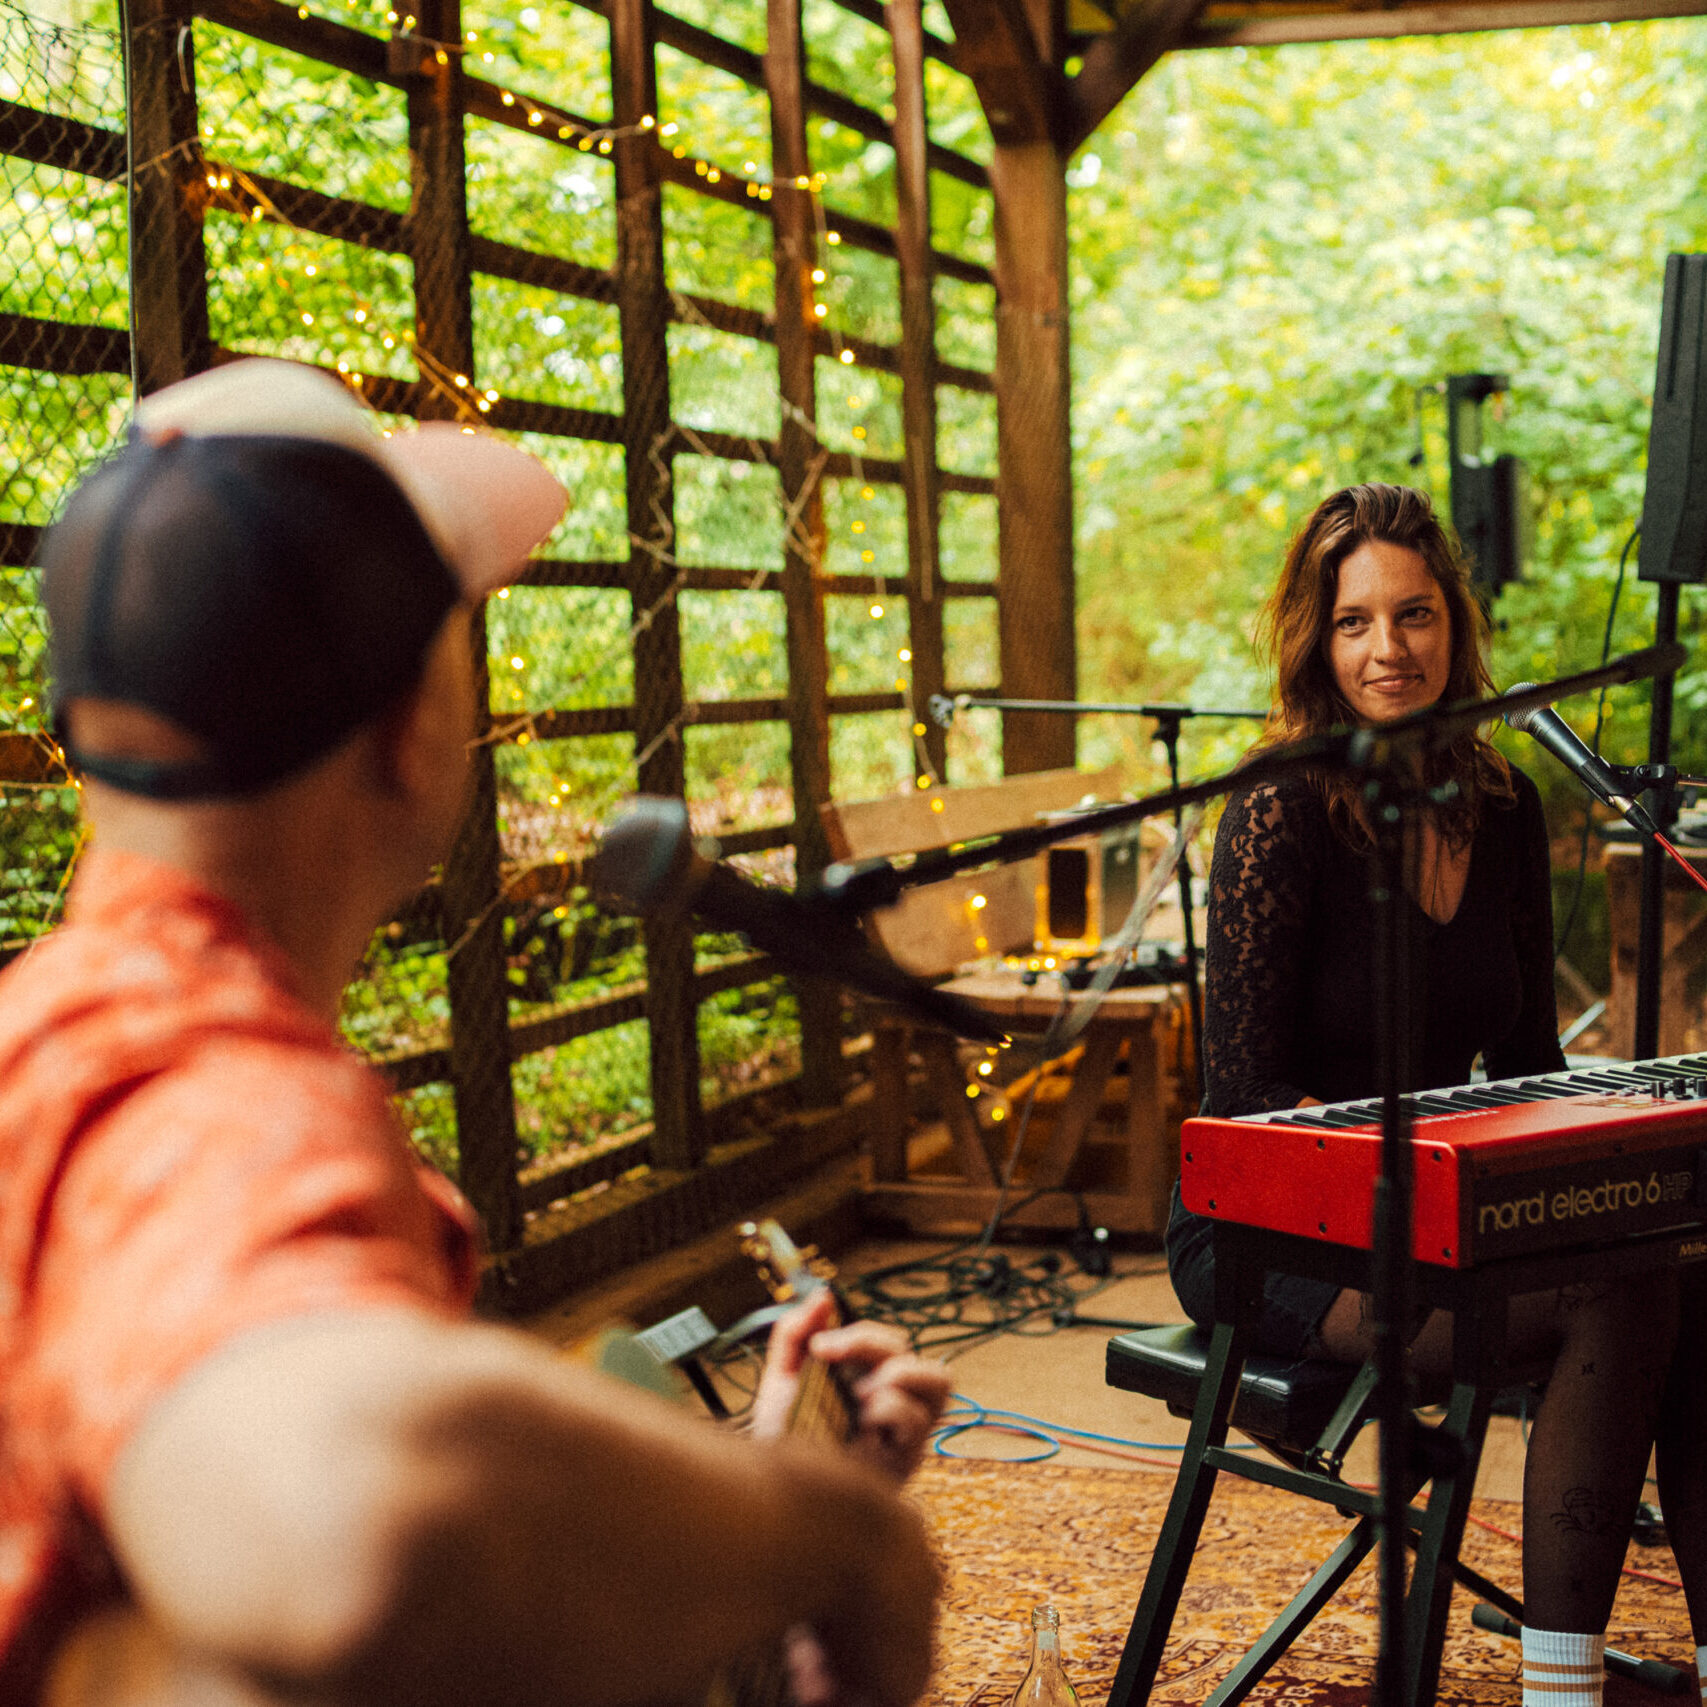
[[[1364,485],[1326,498],[1294,539],[1265,613],[1277,667],[1265,744],[1343,724],[1384,724],[1487,695],[1487,625],[1429,500]],[[1419,1011],[1417,1089],[1557,1072],[1547,826],[1535,784],[1478,734],[1429,760],[1429,809],[1410,855]],[[1210,871],[1205,1113],[1232,1116],[1367,1098],[1376,1082],[1369,824],[1354,784],[1320,773],[1234,792]],[[1214,1318],[1212,1222],[1174,1190],[1168,1263],[1186,1313]],[[1649,1449],[1707,1642],[1707,1393],[1698,1314],[1678,1347],[1678,1285],[1567,1287],[1512,1304],[1519,1355],[1557,1352],[1524,1471],[1524,1707],[1601,1700],[1603,1632]],[[1362,1362],[1367,1296],[1270,1273],[1256,1349]],[[1444,1371],[1451,1318],[1412,1352]],[[1673,1374],[1673,1354],[1676,1374]],[[1671,1389],[1668,1393],[1668,1378]],[[1707,1688],[1707,1683],[1704,1683]]]

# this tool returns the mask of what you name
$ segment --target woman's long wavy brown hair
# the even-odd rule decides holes
[[[1470,591],[1470,572],[1456,543],[1422,492],[1371,481],[1323,498],[1292,541],[1280,582],[1261,615],[1261,642],[1275,666],[1275,700],[1258,746],[1275,746],[1304,736],[1355,724],[1357,714],[1340,693],[1328,662],[1328,625],[1340,589],[1340,565],[1362,545],[1383,539],[1415,551],[1441,589],[1451,618],[1451,657],[1441,703],[1483,698],[1494,691],[1489,674],[1489,625]],[[1369,830],[1357,813],[1355,787],[1345,775],[1316,775],[1328,819],[1352,847],[1369,845]],[[1430,787],[1451,780],[1456,795],[1437,807],[1441,833],[1454,847],[1475,835],[1485,799],[1512,799],[1511,766],[1470,731],[1449,748],[1429,756]]]

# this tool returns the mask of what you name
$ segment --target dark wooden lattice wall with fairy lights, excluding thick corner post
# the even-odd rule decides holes
[[[403,256],[413,275],[413,348],[420,377],[353,379],[379,410],[417,418],[456,418],[464,408],[457,386],[473,391],[476,340],[471,288],[476,275],[519,283],[543,283],[584,300],[611,304],[621,329],[623,411],[563,408],[517,396],[481,394],[481,417],[498,428],[553,434],[623,446],[626,517],[633,541],[626,560],[536,560],[524,577],[534,587],[601,587],[628,592],[638,620],[633,635],[633,703],[586,710],[539,707],[526,719],[522,739],[575,739],[632,734],[642,756],[638,784],[645,792],[683,794],[683,744],[676,736],[691,725],[748,724],[785,719],[790,729],[794,823],[724,836],[729,854],[795,848],[802,874],[828,860],[818,807],[830,792],[830,722],[835,715],[901,710],[901,693],[831,695],[824,635],[824,599],[836,591],[905,597],[910,611],[910,650],[915,693],[946,685],[942,599],[997,594],[995,582],[944,580],[937,553],[937,509],[942,492],[995,495],[987,475],[944,469],[935,452],[935,387],[959,386],[990,393],[988,374],[942,362],[935,350],[932,278],[937,271],[992,285],[988,268],[934,249],[930,244],[929,176],[949,172],[987,188],[982,166],[932,142],[925,128],[925,32],[918,0],[893,0],[877,10],[852,5],[867,22],[891,29],[896,39],[896,118],[888,123],[847,96],[814,85],[806,75],[801,0],[770,0],[770,53],[760,56],[659,10],[652,0],[599,0],[586,10],[609,29],[613,85],[616,259],[609,268],[574,256],[495,241],[469,229],[464,118],[510,126],[533,137],[562,140],[597,131],[591,121],[471,75],[459,51],[457,0],[423,0],[411,27],[382,39],[341,22],[307,14],[277,0],[133,0],[130,7],[131,154],[147,162],[131,183],[131,326],[133,338],[97,326],[58,324],[0,314],[0,364],[53,374],[111,372],[138,376],[140,389],[159,386],[227,360],[208,328],[203,222],[210,212],[292,227]],[[405,96],[410,142],[411,210],[391,212],[364,201],[329,196],[283,179],[229,171],[210,157],[198,133],[198,106],[189,27],[196,20],[236,31],[254,41],[302,55],[324,67],[399,89]],[[731,73],[768,97],[772,113],[773,189],[763,200],[754,186],[707,172],[683,159],[657,135],[655,53],[661,44]],[[816,440],[814,365],[833,348],[833,333],[814,312],[814,244],[824,213],[801,184],[811,159],[807,114],[833,118],[859,135],[894,149],[900,179],[900,229],[824,210],[836,241],[893,258],[900,268],[903,338],[900,345],[836,336],[865,365],[900,376],[908,454],[903,461],[826,452]],[[109,183],[126,176],[126,138],[113,130],[38,113],[0,101],[0,154],[14,154],[61,171]],[[777,297],[772,314],[760,314],[712,297],[673,295],[664,270],[662,186],[683,186],[766,218],[773,227]],[[778,469],[785,505],[797,514],[780,570],[678,567],[654,538],[667,529],[673,505],[673,461],[686,442],[676,437],[669,411],[667,329],[691,314],[696,323],[775,345],[782,432],[763,447]],[[488,399],[490,398],[490,399]],[[662,454],[647,454],[662,446]],[[695,432],[693,449],[731,459],[753,456],[753,440],[731,434]],[[905,575],[826,575],[823,570],[821,481],[855,475],[869,483],[900,485],[908,517]],[[39,529],[0,524],[0,560],[32,560]],[[842,582],[847,586],[843,587]],[[681,633],[674,592],[780,591],[785,608],[789,691],[778,698],[688,703],[683,690]],[[1069,616],[1070,628],[1070,616]],[[476,664],[486,679],[485,626],[476,623]],[[449,956],[449,1034],[442,1045],[389,1058],[382,1065],[398,1089],[449,1079],[454,1087],[459,1183],[475,1202],[488,1243],[500,1258],[510,1294],[522,1299],[550,1285],[584,1279],[613,1261],[633,1260],[666,1243],[691,1236],[744,1198],[763,1193],[811,1166],[823,1152],[818,1121],[814,1142],[792,1140],[754,1147],[719,1144],[700,1106],[696,1011],[719,990],[775,975],[761,956],[746,956],[710,971],[696,971],[693,934],[685,920],[644,927],[644,985],[592,1002],[579,1002],[512,1022],[505,978],[505,908],[541,896],[568,894],[579,881],[577,862],[553,862],[526,871],[505,869],[497,833],[493,746],[507,734],[486,715],[476,746],[475,802],[442,881],[406,910],[411,927],[437,929]],[[941,765],[941,731],[927,737]],[[0,780],[44,780],[55,772],[51,743],[31,734],[0,736]],[[802,1101],[835,1106],[842,1096],[840,1009],[833,992],[802,987]],[[650,1130],[628,1142],[570,1161],[546,1180],[517,1180],[517,1130],[510,1063],[594,1031],[645,1017],[654,1034]],[[843,1121],[840,1142],[847,1142]],[[724,1152],[731,1154],[724,1154]],[[524,1229],[526,1210],[572,1198],[649,1162],[644,1188],[606,1191],[597,1209],[580,1214],[572,1203],[555,1221],[572,1238],[543,1251]]]

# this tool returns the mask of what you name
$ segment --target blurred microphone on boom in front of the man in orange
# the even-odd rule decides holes
[[[599,840],[587,865],[587,886],[608,913],[691,912],[724,930],[739,930],[790,971],[833,978],[963,1038],[1007,1041],[988,1014],[903,971],[843,913],[789,889],[749,883],[708,860],[693,845],[681,801],[664,795],[635,801]]]

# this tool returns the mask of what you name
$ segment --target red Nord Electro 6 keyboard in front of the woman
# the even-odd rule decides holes
[[[1415,1255],[1448,1268],[1707,1227],[1707,1055],[1405,1098]],[[1188,1120],[1180,1190],[1200,1215],[1364,1250],[1381,1103]]]

